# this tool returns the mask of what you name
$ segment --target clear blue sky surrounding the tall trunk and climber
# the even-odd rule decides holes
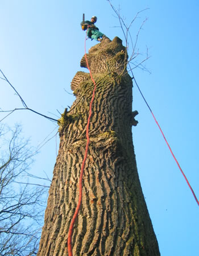
[[[113,0],[139,34],[138,48],[151,56],[148,71],[134,70],[136,81],[153,110],[165,137],[199,197],[198,168],[198,0],[147,1]],[[0,69],[15,86],[29,108],[59,118],[71,106],[71,81],[84,55],[85,18],[98,17],[96,26],[111,40],[124,41],[118,19],[106,0],[0,0]],[[87,51],[97,42],[87,40]],[[141,57],[142,57],[141,56]],[[0,108],[21,108],[13,89],[0,80]],[[65,92],[65,90],[67,92]],[[150,111],[133,88],[133,110],[138,110],[138,126],[132,127],[136,161],[144,197],[162,256],[199,255],[199,208],[173,160]],[[0,113],[0,119],[5,114]],[[57,133],[52,123],[27,110],[15,112],[3,122],[21,123],[24,137],[37,147]],[[49,135],[48,138],[46,138]],[[32,172],[52,177],[59,148],[59,135],[48,141],[36,156]]]

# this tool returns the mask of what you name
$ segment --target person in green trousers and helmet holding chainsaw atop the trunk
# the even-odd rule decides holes
[[[97,22],[97,17],[93,16],[90,21],[89,20],[83,20],[81,22],[81,28],[82,30],[87,30],[87,35],[91,40],[95,39],[98,42],[101,42],[102,40],[102,32],[99,32],[99,28],[97,28],[94,23]]]

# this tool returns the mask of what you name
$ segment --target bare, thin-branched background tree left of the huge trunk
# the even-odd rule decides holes
[[[0,255],[36,254],[42,227],[47,186],[30,183],[34,154],[20,134],[0,127]]]

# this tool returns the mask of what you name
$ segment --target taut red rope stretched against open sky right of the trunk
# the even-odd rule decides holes
[[[130,69],[131,69],[131,68],[130,68]],[[132,70],[131,70],[131,73],[132,73]],[[189,183],[188,179],[186,178],[186,176],[185,176],[183,170],[181,169],[179,162],[177,161],[175,155],[173,154],[173,151],[171,150],[171,147],[169,146],[169,143],[168,143],[167,139],[165,138],[164,133],[163,133],[163,131],[161,130],[161,127],[160,127],[159,123],[157,122],[154,113],[152,112],[150,106],[148,105],[146,99],[144,98],[144,96],[143,96],[143,94],[142,94],[142,92],[141,92],[141,90],[140,90],[140,88],[139,88],[139,86],[138,86],[138,84],[137,84],[137,82],[136,82],[136,80],[135,80],[135,77],[134,77],[133,73],[132,73],[132,77],[133,77],[133,79],[134,79],[134,81],[135,81],[136,86],[138,87],[138,90],[139,90],[140,94],[142,95],[144,101],[146,102],[146,104],[147,104],[147,106],[148,106],[148,109],[150,110],[152,116],[154,117],[155,122],[156,122],[157,126],[159,127],[159,129],[160,129],[160,131],[161,131],[161,134],[163,135],[164,140],[165,140],[165,142],[167,143],[167,146],[168,146],[168,148],[169,148],[169,150],[170,150],[170,152],[171,152],[173,158],[175,159],[175,161],[176,161],[176,163],[177,163],[177,166],[179,167],[181,173],[183,174],[183,176],[184,176],[184,178],[185,178],[185,180],[186,180],[186,183],[188,184],[190,190],[192,191],[192,194],[193,194],[193,196],[194,196],[194,199],[196,200],[197,204],[199,205],[199,201],[198,201],[198,199],[197,199],[197,197],[196,197],[196,195],[195,195],[195,193],[194,193],[192,187],[190,186],[190,183]]]

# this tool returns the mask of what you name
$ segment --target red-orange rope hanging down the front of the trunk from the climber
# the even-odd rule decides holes
[[[89,125],[90,125],[90,117],[92,115],[92,104],[93,104],[93,101],[94,101],[94,94],[95,94],[95,91],[96,91],[96,82],[93,79],[92,73],[91,73],[90,68],[89,68],[88,60],[87,60],[87,57],[86,57],[86,37],[85,37],[85,59],[86,59],[86,65],[87,65],[87,67],[89,69],[89,72],[90,72],[90,78],[92,79],[93,84],[94,84],[94,89],[93,89],[92,100],[90,101],[89,117],[88,117],[88,122],[87,122],[87,126],[86,126],[87,143],[86,143],[86,150],[85,150],[85,154],[84,154],[84,160],[82,162],[81,171],[80,171],[79,198],[78,198],[77,207],[76,207],[76,210],[74,212],[71,224],[69,226],[69,232],[68,232],[68,255],[69,256],[73,255],[73,252],[72,252],[73,226],[74,226],[74,222],[76,221],[76,218],[77,218],[77,215],[78,215],[78,212],[80,210],[81,203],[82,203],[82,178],[83,178],[83,174],[84,174],[84,167],[85,167],[85,162],[86,162],[86,158],[87,158],[87,155],[88,155],[88,149],[89,149],[89,141],[90,141],[90,139],[89,139]]]

